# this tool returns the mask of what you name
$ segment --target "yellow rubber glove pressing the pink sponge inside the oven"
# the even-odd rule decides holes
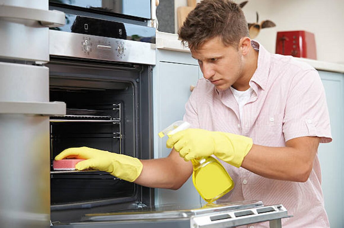
[[[89,147],[74,147],[62,151],[55,160],[64,158],[87,159],[75,165],[77,170],[95,169],[133,182],[141,174],[143,165],[137,158]]]

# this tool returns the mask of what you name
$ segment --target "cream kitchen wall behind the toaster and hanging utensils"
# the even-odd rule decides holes
[[[174,0],[175,12],[183,5],[186,0]],[[248,22],[256,22],[257,11],[259,22],[269,19],[276,23],[255,38],[269,52],[275,53],[277,31],[306,30],[315,35],[318,60],[344,64],[343,9],[343,0],[249,0],[243,11]],[[176,25],[175,19],[175,31]]]

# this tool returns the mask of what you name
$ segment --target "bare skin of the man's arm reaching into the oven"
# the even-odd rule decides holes
[[[174,149],[166,158],[141,162],[142,172],[134,182],[146,187],[179,189],[189,179],[193,170],[191,161],[184,161]]]

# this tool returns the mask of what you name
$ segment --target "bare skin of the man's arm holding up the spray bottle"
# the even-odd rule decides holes
[[[266,178],[307,181],[318,150],[319,137],[299,137],[286,142],[286,147],[253,145],[241,167]]]

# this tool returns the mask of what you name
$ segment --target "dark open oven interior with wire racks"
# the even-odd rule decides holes
[[[113,211],[125,202],[150,205],[151,189],[101,171],[54,171],[52,164],[64,149],[82,146],[151,158],[151,67],[54,58],[48,65],[50,100],[67,106],[65,116],[50,118],[52,212],[82,209],[83,214],[99,206]]]

